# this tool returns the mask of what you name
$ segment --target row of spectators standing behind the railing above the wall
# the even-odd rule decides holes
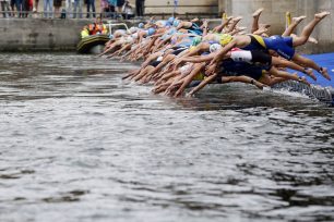
[[[100,0],[100,11],[95,8],[95,0],[43,0],[43,17],[83,18],[96,17],[123,17],[143,16],[144,0],[136,0],[135,7],[128,0]],[[83,12],[83,4],[86,12]],[[2,17],[27,17],[38,16],[39,0],[0,0]]]

